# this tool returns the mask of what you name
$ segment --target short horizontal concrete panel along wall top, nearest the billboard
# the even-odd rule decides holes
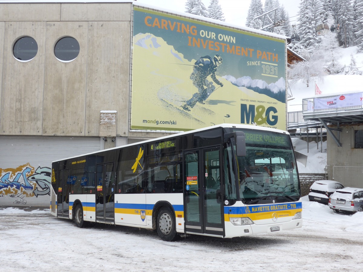
[[[131,3],[63,3],[61,21],[130,21]]]

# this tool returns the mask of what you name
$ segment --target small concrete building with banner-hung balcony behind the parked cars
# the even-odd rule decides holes
[[[327,179],[362,188],[362,93],[316,96],[302,103],[303,119],[317,122],[327,131]]]

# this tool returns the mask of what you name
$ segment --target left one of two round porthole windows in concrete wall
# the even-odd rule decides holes
[[[38,52],[38,44],[32,37],[21,37],[13,46],[13,55],[18,61],[31,61]]]

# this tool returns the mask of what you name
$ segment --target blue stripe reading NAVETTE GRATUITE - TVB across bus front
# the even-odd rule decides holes
[[[248,211],[246,212],[246,209]],[[270,205],[250,205],[246,207],[224,207],[225,214],[246,214],[246,213],[265,213],[268,211],[286,211],[286,210],[295,210],[302,209],[301,202],[295,203],[279,203],[279,204],[270,204]]]

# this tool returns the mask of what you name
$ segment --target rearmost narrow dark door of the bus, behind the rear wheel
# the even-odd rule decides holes
[[[57,217],[69,218],[69,169],[58,173]]]

